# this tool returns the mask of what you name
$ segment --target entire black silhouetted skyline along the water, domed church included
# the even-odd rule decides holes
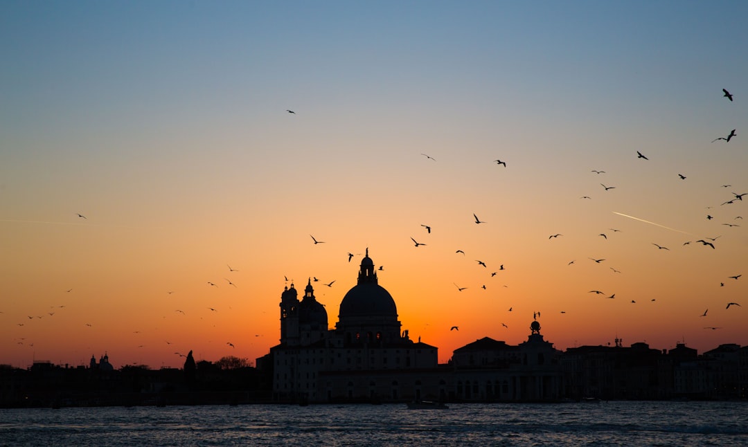
[[[559,351],[535,319],[526,342],[483,337],[438,364],[438,348],[401,329],[369,250],[333,329],[311,281],[301,300],[293,284],[283,290],[279,307],[280,342],[257,369],[195,363],[191,353],[183,369],[114,369],[106,354],[98,362],[92,356],[88,367],[0,365],[0,407],[748,398],[748,346],[720,345],[699,356],[684,344],[668,352],[616,339]]]

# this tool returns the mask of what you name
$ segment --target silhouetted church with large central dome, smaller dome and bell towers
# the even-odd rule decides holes
[[[379,286],[368,249],[334,329],[328,329],[327,310],[314,297],[311,280],[301,300],[293,284],[286,288],[280,307],[281,342],[258,360],[272,363],[274,400],[438,398],[440,384],[441,393],[447,392],[437,348],[401,330],[395,300]]]

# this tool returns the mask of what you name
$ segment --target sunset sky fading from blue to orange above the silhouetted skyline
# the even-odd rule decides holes
[[[0,2],[0,364],[254,362],[292,283],[334,327],[367,248],[442,363],[533,315],[561,350],[748,345],[747,15]]]

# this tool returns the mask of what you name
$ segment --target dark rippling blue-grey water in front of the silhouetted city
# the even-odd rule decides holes
[[[748,402],[0,410],[0,446],[748,446]]]

